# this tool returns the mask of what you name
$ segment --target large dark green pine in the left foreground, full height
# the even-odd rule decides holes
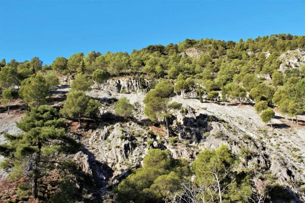
[[[62,166],[59,153],[73,151],[78,145],[66,135],[65,120],[60,119],[52,107],[32,108],[17,127],[24,134],[4,135],[9,143],[0,145],[0,155],[6,157],[0,166],[10,170],[10,179],[20,177],[22,173],[28,177],[35,199],[38,198],[39,178],[48,169]]]

